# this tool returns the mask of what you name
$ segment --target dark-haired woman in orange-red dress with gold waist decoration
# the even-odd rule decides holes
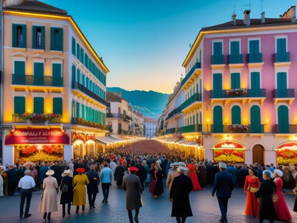
[[[255,193],[260,187],[260,180],[254,175],[252,169],[249,169],[249,176],[245,178],[244,192],[247,194],[247,204],[245,206],[244,213],[258,217],[259,213],[259,201],[255,197]]]

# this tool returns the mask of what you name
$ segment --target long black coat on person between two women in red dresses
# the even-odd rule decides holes
[[[271,197],[276,190],[277,186],[271,180],[263,180],[260,183],[260,188],[255,193],[255,196],[260,198],[259,219],[277,219],[277,214]]]

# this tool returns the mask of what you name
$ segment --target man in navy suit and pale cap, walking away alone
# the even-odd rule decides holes
[[[214,194],[217,193],[219,208],[222,214],[220,222],[227,223],[228,200],[231,197],[231,192],[234,189],[234,183],[232,180],[232,175],[227,173],[225,171],[226,169],[227,165],[225,163],[219,162],[220,172],[215,175],[214,188],[212,190],[211,196],[214,197]]]

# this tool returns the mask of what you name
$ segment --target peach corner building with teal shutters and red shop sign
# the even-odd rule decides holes
[[[107,132],[102,58],[67,11],[40,1],[2,3],[3,162],[96,153],[96,137]]]

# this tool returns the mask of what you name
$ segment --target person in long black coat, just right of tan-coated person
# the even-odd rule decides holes
[[[187,169],[178,167],[179,176],[173,179],[169,199],[172,201],[171,217],[176,217],[177,223],[184,223],[187,217],[193,216],[189,194],[193,190],[191,178],[184,175]]]

